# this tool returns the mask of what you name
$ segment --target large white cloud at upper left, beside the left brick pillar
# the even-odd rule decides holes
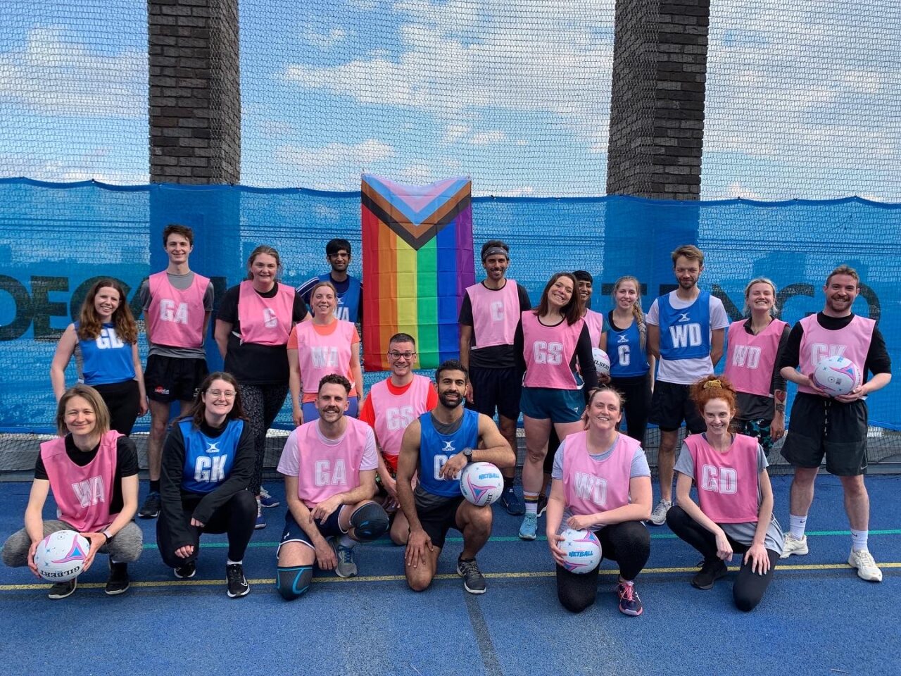
[[[55,116],[146,117],[146,51],[97,54],[61,28],[33,28],[0,54],[0,100]]]

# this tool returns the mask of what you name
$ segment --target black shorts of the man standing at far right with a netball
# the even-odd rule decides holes
[[[840,477],[856,477],[867,470],[867,405],[842,404],[827,397],[800,392],[791,407],[791,425],[782,457],[796,467],[819,467]]]

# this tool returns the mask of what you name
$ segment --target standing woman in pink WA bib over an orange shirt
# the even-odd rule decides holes
[[[337,374],[350,380],[347,416],[357,417],[363,394],[363,371],[359,367],[357,327],[335,316],[338,294],[330,281],[310,289],[313,319],[296,324],[287,339],[288,383],[295,425],[316,420],[319,381]]]

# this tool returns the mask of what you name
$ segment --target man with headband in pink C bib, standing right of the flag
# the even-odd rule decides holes
[[[471,406],[490,418],[497,412],[501,434],[515,452],[523,374],[516,369],[513,339],[520,315],[532,303],[528,291],[506,277],[510,247],[505,242],[485,242],[481,256],[487,277],[467,288],[460,304],[460,363],[469,370]],[[523,514],[523,498],[514,489],[515,463],[501,473],[501,504],[514,516]]]

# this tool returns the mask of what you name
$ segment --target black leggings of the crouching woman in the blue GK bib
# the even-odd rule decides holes
[[[170,568],[180,568],[186,563],[196,561],[197,554],[200,553],[200,535],[204,533],[227,533],[229,561],[237,562],[244,558],[250,535],[253,534],[253,526],[257,521],[257,498],[250,490],[239,490],[222,507],[214,511],[203,528],[197,528],[191,525],[191,516],[203,498],[201,495],[182,497],[181,507],[185,513],[185,526],[192,538],[189,544],[194,545],[194,553],[187,559],[175,555],[176,547],[172,542],[172,534],[169,532],[166,519],[160,517],[157,520],[159,555]]]

